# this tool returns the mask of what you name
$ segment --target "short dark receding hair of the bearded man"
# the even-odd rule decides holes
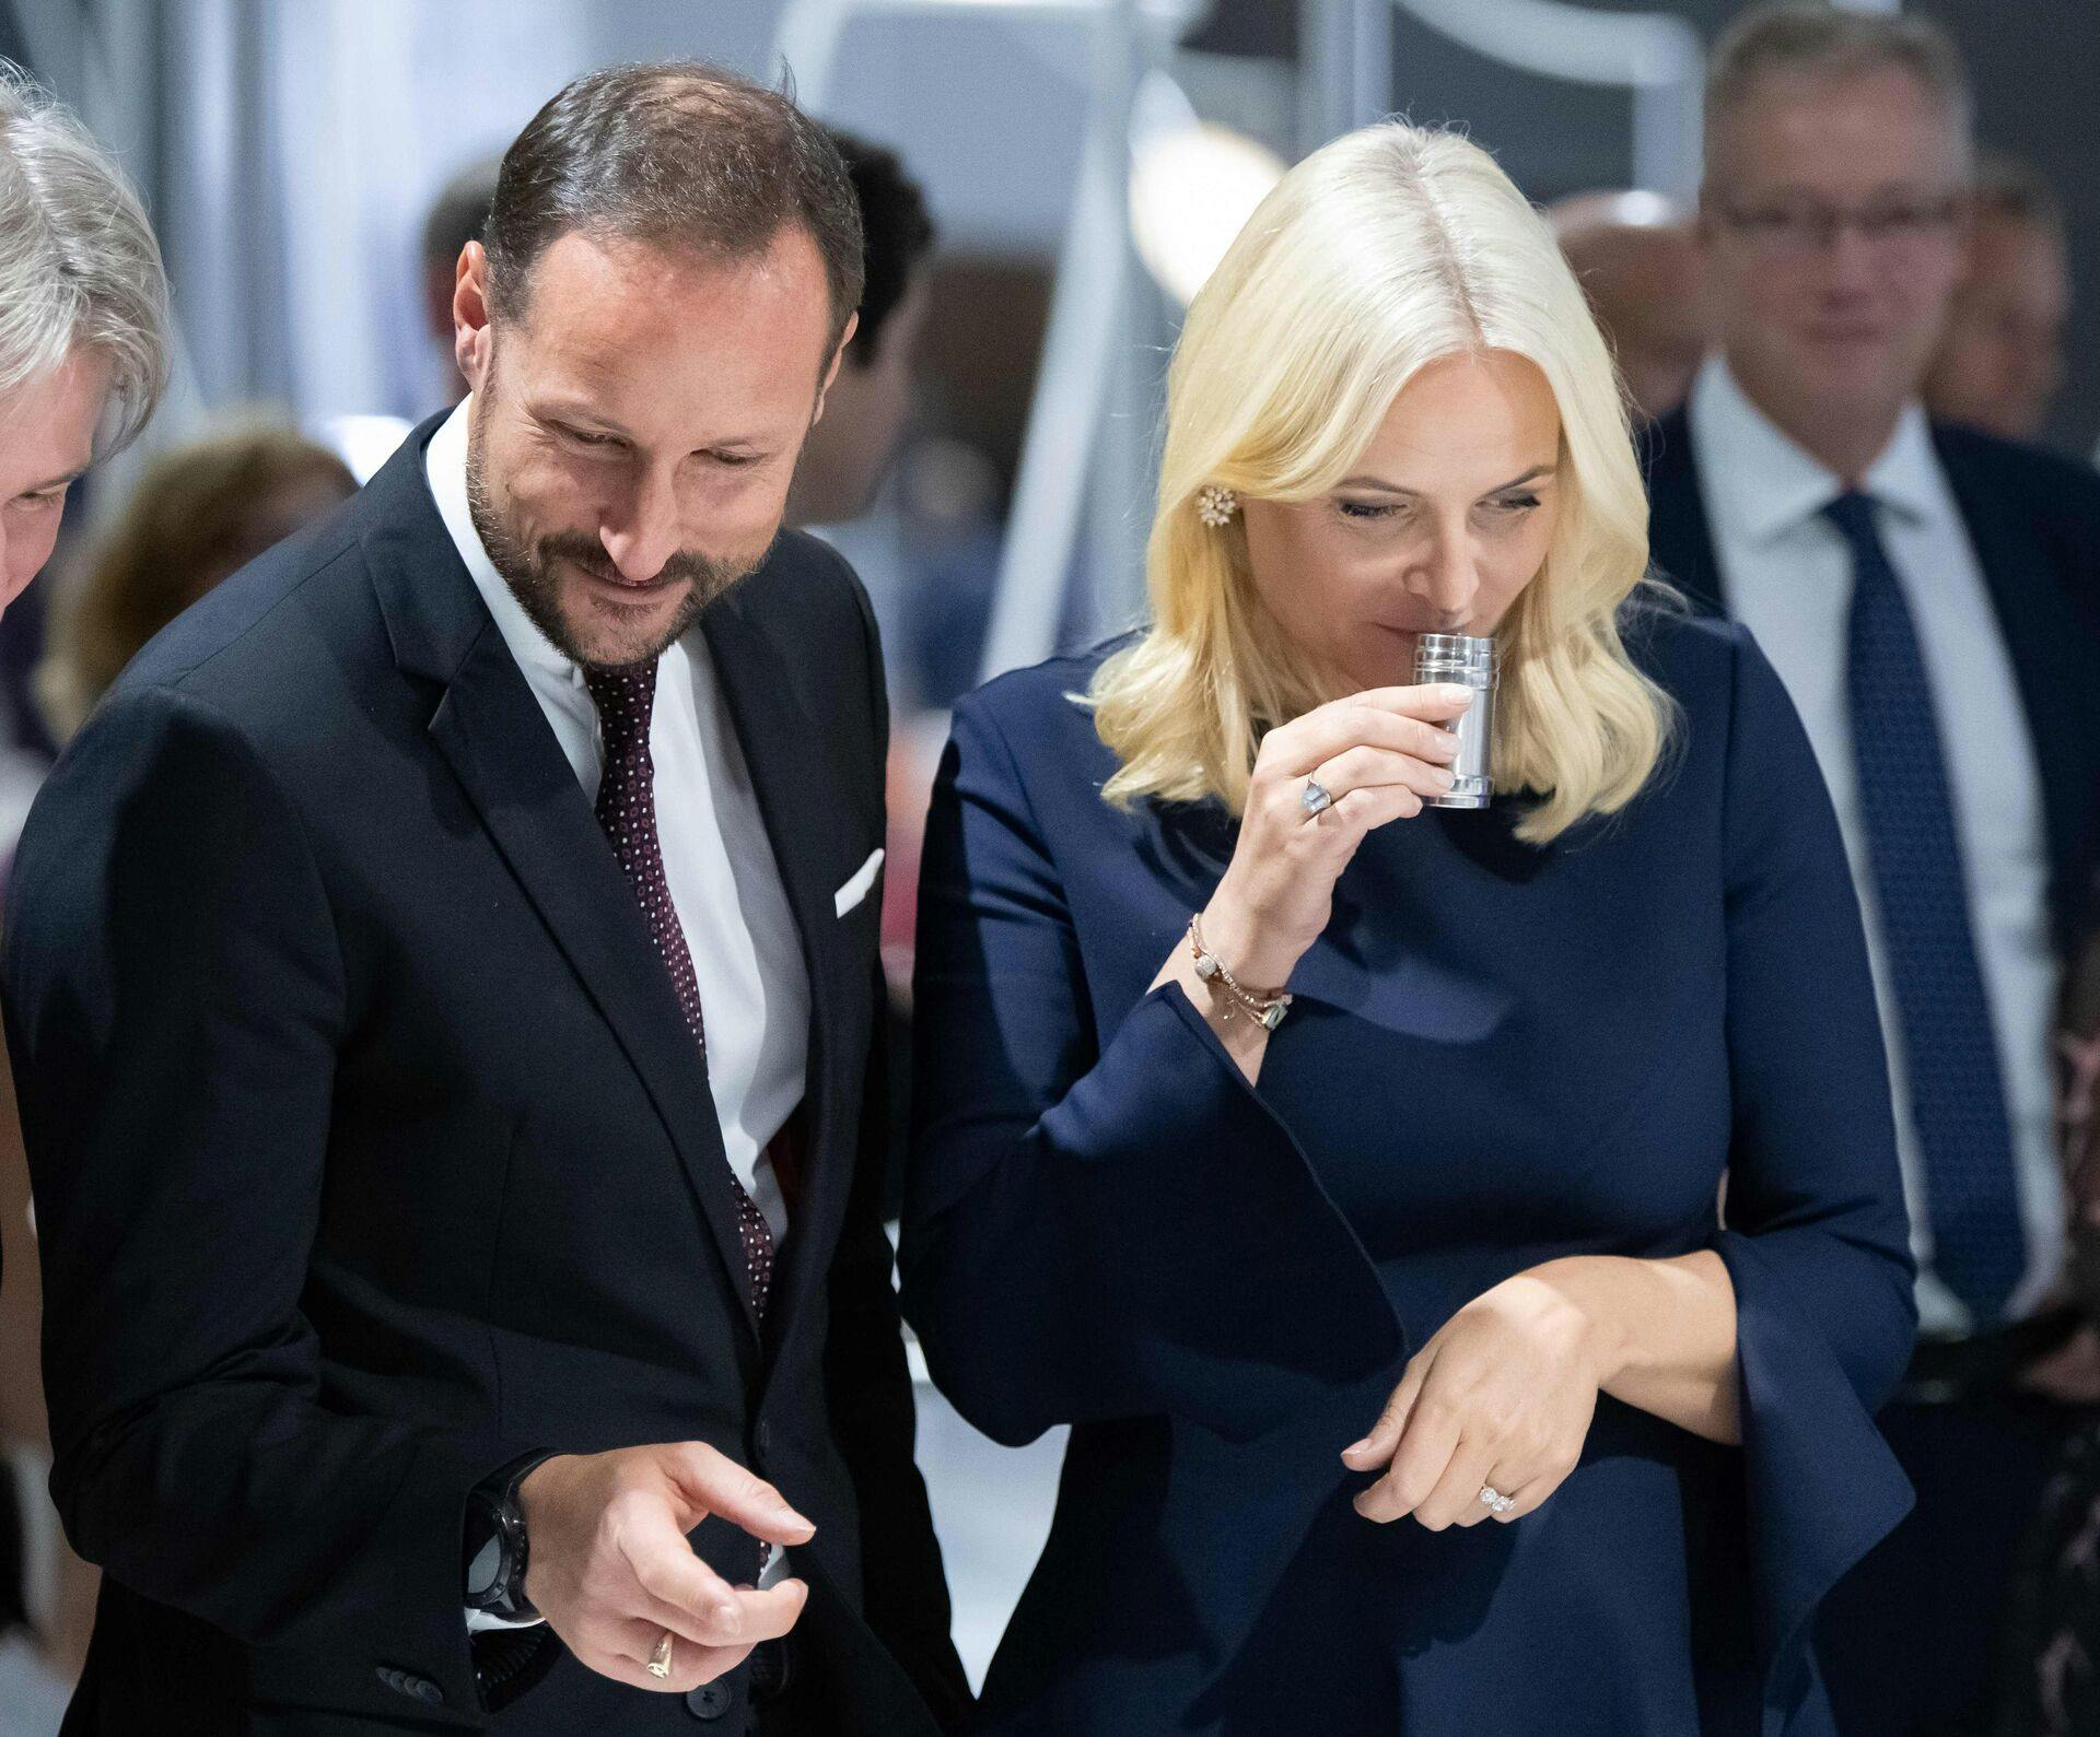
[[[504,151],[483,235],[489,304],[521,313],[533,262],[563,235],[743,260],[785,227],[823,254],[836,340],[861,304],[861,212],[823,128],[704,61],[607,67],[563,86]]]

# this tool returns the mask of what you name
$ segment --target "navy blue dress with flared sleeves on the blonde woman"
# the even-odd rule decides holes
[[[905,1309],[1002,1441],[1073,1427],[981,1729],[1829,1731],[1816,1601],[1909,1506],[1888,1082],[1838,824],[1739,627],[1630,617],[1682,707],[1617,818],[1373,833],[1258,1087],[1149,992],[1231,858],[1100,799],[1096,657],[956,711],[920,883]],[[1728,1179],[1726,1217],[1716,1208]],[[1340,1450],[1464,1303],[1716,1248],[1743,1445],[1602,1399],[1514,1525],[1371,1525]]]

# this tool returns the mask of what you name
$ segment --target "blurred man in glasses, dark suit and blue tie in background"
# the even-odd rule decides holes
[[[1890,1049],[1922,1338],[1882,1424],[1917,1508],[1821,1630],[1869,1737],[1991,1729],[2016,1548],[2100,1397],[2050,1072],[2100,843],[2100,478],[1917,403],[1970,159],[1932,25],[1743,19],[1707,99],[1720,350],[1644,436],[1657,569],[1756,631],[1808,726]]]

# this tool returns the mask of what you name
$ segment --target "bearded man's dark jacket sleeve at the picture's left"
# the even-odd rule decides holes
[[[97,713],[23,835],[0,990],[67,1538],[252,1647],[380,1699],[376,1664],[414,1670],[472,1714],[464,1496],[531,1443],[319,1401],[300,1292],[344,967],[235,724],[168,686]]]

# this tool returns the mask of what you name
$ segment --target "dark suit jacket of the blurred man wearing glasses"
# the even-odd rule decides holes
[[[1974,428],[1934,424],[1997,613],[2041,776],[2050,917],[2060,952],[2092,917],[2100,864],[2100,474]],[[1728,613],[1699,455],[1682,409],[1642,436],[1648,548],[1693,606]]]

